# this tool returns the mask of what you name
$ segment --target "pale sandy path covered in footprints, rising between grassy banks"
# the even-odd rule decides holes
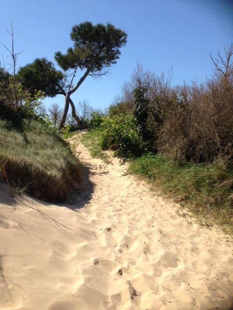
[[[227,237],[179,217],[116,158],[77,151],[85,182],[67,205],[0,186],[0,310],[231,309]]]

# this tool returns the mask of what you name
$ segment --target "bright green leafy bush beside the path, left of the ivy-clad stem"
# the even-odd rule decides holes
[[[101,125],[101,148],[115,150],[119,157],[134,157],[141,153],[140,138],[133,115],[106,117]]]

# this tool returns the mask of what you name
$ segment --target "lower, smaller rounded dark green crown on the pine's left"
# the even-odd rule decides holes
[[[46,58],[37,58],[19,68],[18,78],[23,89],[29,93],[34,94],[34,90],[40,90],[46,96],[53,97],[61,93],[60,86],[63,85],[64,75]]]

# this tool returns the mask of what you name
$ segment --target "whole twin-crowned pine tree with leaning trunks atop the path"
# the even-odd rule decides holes
[[[72,116],[78,123],[81,122],[76,115],[71,94],[77,91],[88,76],[98,78],[108,73],[110,66],[119,58],[119,48],[126,44],[127,34],[109,23],[93,25],[84,22],[72,28],[70,38],[73,47],[69,47],[66,54],[55,53],[55,61],[62,72],[55,70],[54,65],[44,58],[20,68],[18,72],[25,87],[42,90],[48,96],[65,96],[59,129],[65,124],[69,105]],[[79,71],[84,73],[76,80]]]

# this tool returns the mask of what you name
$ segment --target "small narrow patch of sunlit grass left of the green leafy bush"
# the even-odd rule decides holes
[[[94,128],[83,134],[82,143],[90,151],[91,156],[102,159],[105,163],[109,163],[108,156],[100,147],[100,137],[103,129],[101,127]]]

